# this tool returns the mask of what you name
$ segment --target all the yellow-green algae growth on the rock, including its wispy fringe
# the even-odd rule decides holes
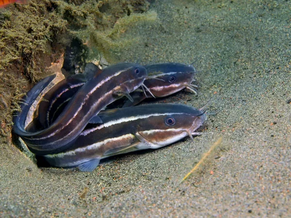
[[[146,0],[30,0],[0,9],[1,141],[10,138],[12,113],[23,94],[48,76],[46,68],[72,39],[88,41],[84,62],[97,56],[116,62],[111,52],[131,44],[124,31],[156,19],[155,13],[134,14],[148,8]]]

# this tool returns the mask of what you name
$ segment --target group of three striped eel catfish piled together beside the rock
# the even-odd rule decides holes
[[[192,64],[172,62],[118,63],[102,70],[88,63],[83,74],[52,86],[26,124],[33,102],[55,75],[38,82],[23,97],[13,130],[50,166],[81,171],[93,171],[100,159],[109,156],[161,148],[187,136],[193,140],[202,134],[195,130],[206,120],[204,107],[135,105],[184,88],[197,95],[195,72]],[[121,107],[114,108],[113,102]]]

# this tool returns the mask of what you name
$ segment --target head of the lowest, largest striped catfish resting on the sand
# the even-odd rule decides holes
[[[161,113],[153,109],[153,115],[139,125],[137,132],[156,146],[153,148],[163,147],[187,136],[193,139],[195,130],[206,120],[206,114],[185,105],[164,105],[157,106]],[[162,109],[167,106],[172,109]]]

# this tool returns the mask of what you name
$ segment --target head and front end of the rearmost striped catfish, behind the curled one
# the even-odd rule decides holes
[[[197,95],[198,86],[192,84],[196,80],[194,79],[194,73],[196,70],[191,64],[181,63],[157,63],[148,64],[144,66],[147,74],[153,79],[146,79],[144,84],[148,88],[147,90],[137,89],[131,93],[131,97],[134,100],[126,101],[123,107],[130,107],[137,105],[148,97],[164,97],[186,88],[189,91]],[[159,78],[154,79],[154,78]],[[146,92],[150,92],[146,94]]]

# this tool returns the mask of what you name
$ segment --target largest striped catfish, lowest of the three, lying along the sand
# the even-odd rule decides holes
[[[54,167],[79,167],[93,171],[100,159],[143,149],[157,149],[186,136],[201,135],[195,130],[206,114],[178,104],[150,104],[101,111],[102,124],[90,124],[61,153],[42,156]]]

